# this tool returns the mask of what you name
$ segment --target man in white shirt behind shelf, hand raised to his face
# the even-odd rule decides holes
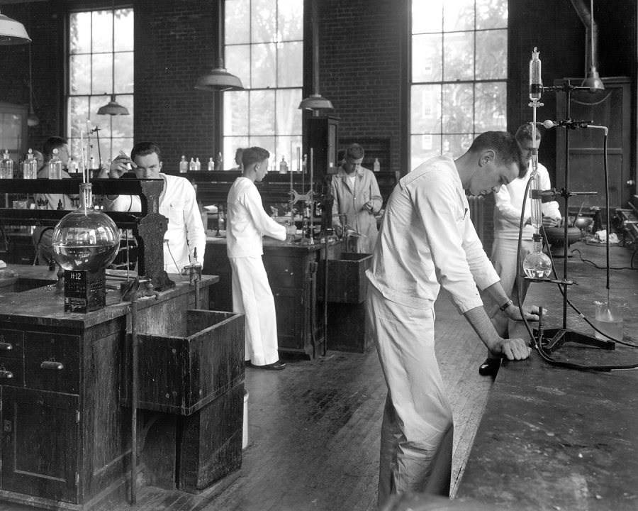
[[[108,176],[103,170],[100,177],[119,179],[133,168],[138,179],[164,180],[164,189],[159,196],[159,213],[168,219],[164,234],[164,270],[181,273],[184,266],[197,259],[201,262],[206,250],[206,231],[197,206],[196,192],[184,177],[163,174],[162,152],[151,142],[140,142],[133,146],[130,158],[121,154],[113,160]],[[106,195],[104,209],[107,211],[141,211],[140,197],[137,195]]]

